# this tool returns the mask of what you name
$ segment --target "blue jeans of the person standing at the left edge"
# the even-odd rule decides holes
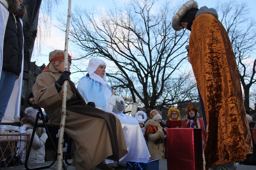
[[[0,125],[15,84],[16,74],[2,70],[0,78]]]

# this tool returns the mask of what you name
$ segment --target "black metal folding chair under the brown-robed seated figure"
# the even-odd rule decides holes
[[[35,119],[35,125],[34,125],[34,128],[33,128],[33,132],[31,134],[31,138],[30,138],[30,142],[29,142],[29,147],[28,147],[28,151],[27,151],[27,154],[26,154],[26,159],[25,159],[25,168],[27,170],[38,170],[38,169],[45,169],[45,168],[49,168],[51,167],[56,159],[57,159],[57,153],[58,153],[58,150],[56,148],[56,146],[54,145],[54,141],[49,133],[49,130],[48,128],[53,128],[53,129],[59,129],[59,126],[57,125],[53,125],[51,123],[46,123],[45,119],[44,119],[44,115],[43,115],[43,112],[42,112],[42,109],[38,106],[36,106],[38,109],[39,109],[39,112],[37,113],[37,117]],[[41,119],[43,122],[42,123],[38,123],[38,119]],[[46,134],[48,135],[48,138],[51,140],[51,142],[53,143],[53,146],[54,146],[54,149],[55,149],[55,159],[53,160],[53,162],[50,164],[50,165],[46,165],[46,166],[40,166],[40,167],[36,167],[36,168],[29,168],[28,167],[28,159],[29,159],[29,154],[30,154],[30,151],[31,151],[31,147],[32,147],[32,143],[33,143],[33,139],[34,139],[34,135],[35,135],[35,130],[37,128],[45,128],[45,131],[46,131]],[[65,163],[67,165],[71,165],[71,163],[68,162],[68,157],[70,155],[74,155],[74,153],[70,153],[71,151],[71,143],[72,143],[73,139],[70,137],[69,138],[69,143],[68,143],[68,148],[67,148],[67,154],[63,154],[63,156],[65,156]],[[64,162],[62,162],[62,168],[64,170],[67,170]]]

